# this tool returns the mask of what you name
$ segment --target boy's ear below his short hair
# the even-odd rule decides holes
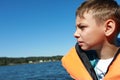
[[[116,23],[113,19],[108,19],[105,22],[105,35],[110,36],[115,32]]]

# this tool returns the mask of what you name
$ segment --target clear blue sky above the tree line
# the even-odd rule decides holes
[[[64,55],[84,0],[0,0],[0,57]]]

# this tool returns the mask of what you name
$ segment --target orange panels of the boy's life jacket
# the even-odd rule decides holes
[[[85,53],[82,53],[85,54]],[[73,47],[68,54],[62,58],[62,65],[70,76],[75,80],[98,80],[92,72],[85,67],[86,62],[83,63],[76,48]],[[89,65],[88,65],[89,67]],[[92,69],[91,71],[94,72]],[[120,50],[108,67],[108,70],[103,80],[120,80]]]

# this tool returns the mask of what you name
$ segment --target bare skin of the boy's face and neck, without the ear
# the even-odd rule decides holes
[[[84,18],[76,17],[76,31],[74,33],[81,49],[96,50],[99,58],[113,57],[118,48],[107,41],[106,23],[96,22],[91,13],[84,13],[83,16]]]

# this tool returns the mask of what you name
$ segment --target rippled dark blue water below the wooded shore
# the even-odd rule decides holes
[[[0,67],[0,80],[72,80],[61,62]]]

